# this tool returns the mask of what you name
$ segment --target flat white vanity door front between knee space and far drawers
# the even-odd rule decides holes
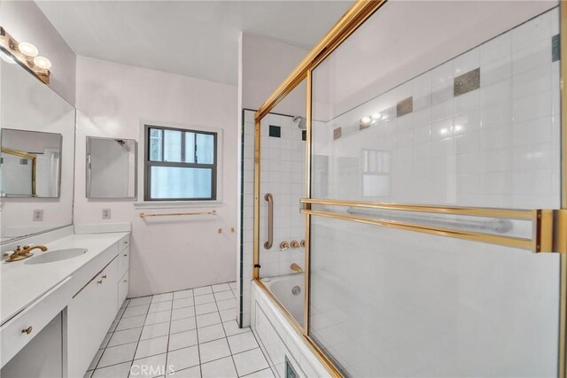
[[[118,258],[76,293],[67,308],[68,376],[82,377],[118,312]]]

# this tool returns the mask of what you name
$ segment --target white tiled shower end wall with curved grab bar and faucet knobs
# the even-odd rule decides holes
[[[271,127],[271,133],[270,133]],[[272,136],[270,136],[270,134]],[[277,136],[279,135],[279,136]],[[260,276],[291,274],[291,264],[303,268],[303,248],[280,250],[280,243],[300,242],[305,238],[305,218],[299,213],[299,198],[305,193],[305,142],[303,132],[292,116],[268,114],[261,124],[260,139]],[[250,289],[252,281],[253,183],[254,183],[254,112],[244,111],[243,134],[243,235],[242,303],[243,325],[250,324]],[[274,243],[268,240],[268,203],[266,193],[274,197]]]

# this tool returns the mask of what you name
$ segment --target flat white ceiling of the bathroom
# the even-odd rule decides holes
[[[310,50],[352,1],[36,1],[78,54],[237,84],[238,35]]]

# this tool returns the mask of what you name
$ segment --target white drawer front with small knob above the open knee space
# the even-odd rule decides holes
[[[65,308],[72,295],[70,280],[67,277],[0,328],[2,366]]]

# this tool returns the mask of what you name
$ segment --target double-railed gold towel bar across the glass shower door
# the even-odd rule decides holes
[[[301,213],[320,216],[336,220],[349,220],[365,224],[372,224],[387,228],[397,228],[408,231],[421,232],[430,235],[448,236],[465,239],[475,242],[492,243],[504,245],[512,248],[534,252],[553,251],[553,229],[554,216],[557,218],[557,211],[554,210],[514,210],[496,208],[476,208],[476,207],[457,207],[457,206],[431,206],[423,204],[391,204],[386,202],[362,202],[362,201],[341,201],[331,199],[311,199],[303,198],[299,201],[303,204]],[[510,235],[494,235],[485,232],[449,228],[449,225],[435,227],[408,222],[402,220],[388,220],[378,217],[369,218],[353,215],[350,213],[327,212],[324,210],[312,210],[311,205],[330,205],[353,208],[369,208],[396,210],[404,212],[430,212],[447,215],[468,215],[476,217],[508,218],[513,220],[531,220],[532,238],[524,238]],[[347,210],[348,211],[348,210]],[[352,211],[352,209],[351,209]],[[379,214],[378,214],[379,215]]]

